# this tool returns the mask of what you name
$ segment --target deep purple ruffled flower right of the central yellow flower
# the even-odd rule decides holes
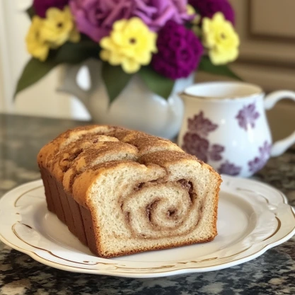
[[[174,21],[168,21],[158,32],[157,47],[151,65],[159,74],[173,80],[189,76],[203,52],[202,43],[192,30]]]

